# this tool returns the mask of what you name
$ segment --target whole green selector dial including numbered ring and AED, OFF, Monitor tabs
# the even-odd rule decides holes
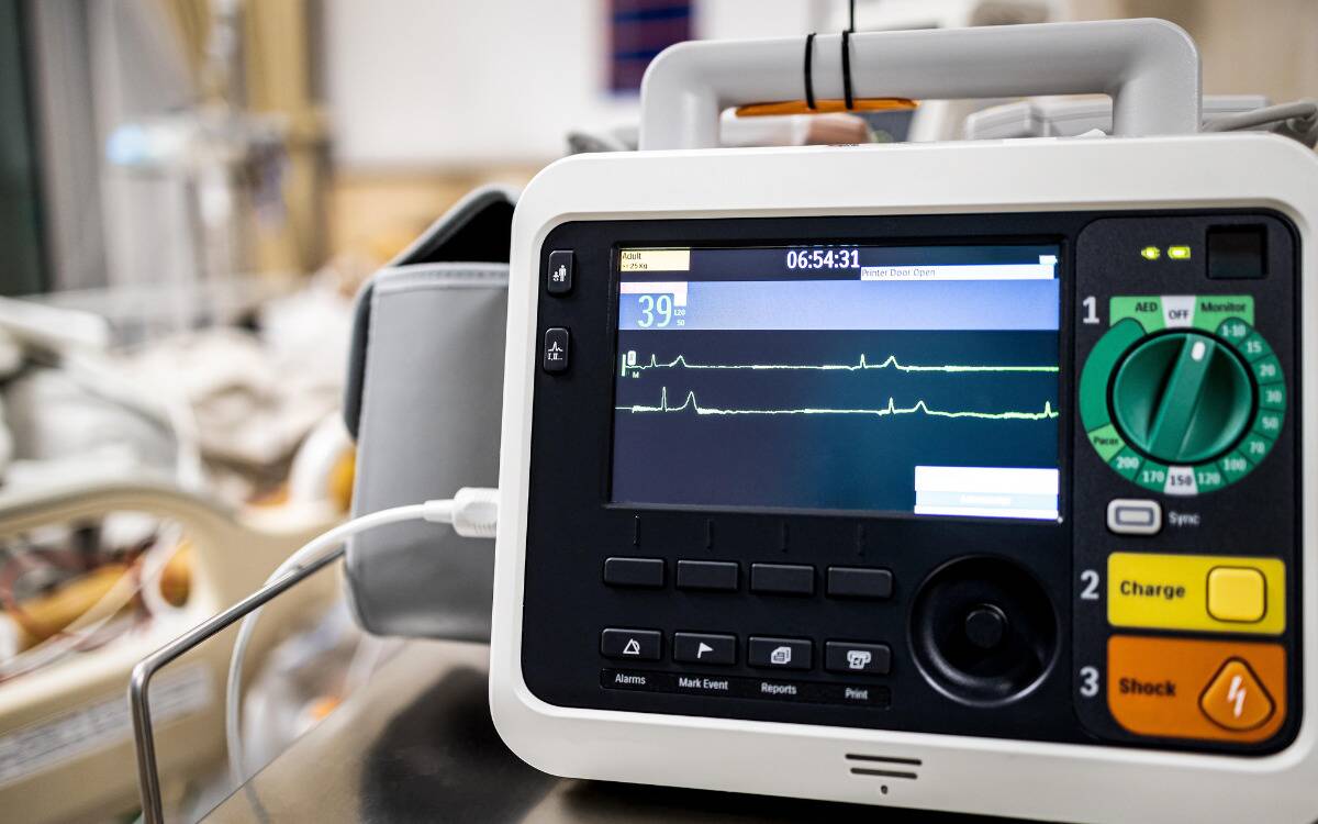
[[[1169,327],[1170,324],[1170,327]],[[1286,384],[1249,297],[1116,297],[1085,361],[1079,417],[1099,457],[1165,494],[1227,486],[1281,434]]]

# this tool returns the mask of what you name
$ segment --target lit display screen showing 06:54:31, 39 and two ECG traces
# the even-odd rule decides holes
[[[1056,521],[1057,256],[619,249],[613,501]]]

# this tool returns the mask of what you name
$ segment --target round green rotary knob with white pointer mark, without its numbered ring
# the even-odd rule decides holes
[[[1253,411],[1253,386],[1228,345],[1201,332],[1172,332],[1122,359],[1111,403],[1127,443],[1156,460],[1197,464],[1239,440]]]

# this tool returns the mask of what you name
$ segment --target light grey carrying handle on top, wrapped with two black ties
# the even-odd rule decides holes
[[[1199,53],[1184,29],[1165,20],[867,32],[849,40],[857,96],[1106,92],[1115,134],[1199,131]],[[641,86],[641,149],[713,148],[725,108],[803,96],[803,49],[799,37],[670,46]],[[841,49],[841,34],[815,38],[816,95],[842,88]]]

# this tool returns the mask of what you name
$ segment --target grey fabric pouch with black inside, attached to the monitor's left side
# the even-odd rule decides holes
[[[353,517],[496,485],[514,202],[501,187],[472,192],[357,297],[344,397]],[[493,571],[489,541],[431,523],[348,546],[349,597],[376,634],[488,639]]]

